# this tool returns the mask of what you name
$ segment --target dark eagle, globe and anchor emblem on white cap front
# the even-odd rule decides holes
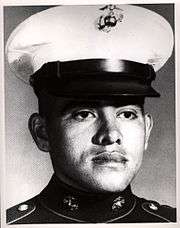
[[[100,10],[106,10],[105,15],[101,15],[97,22],[97,28],[103,32],[110,32],[113,27],[117,25],[118,22],[122,22],[124,15],[122,14],[122,9],[116,5],[106,5]]]

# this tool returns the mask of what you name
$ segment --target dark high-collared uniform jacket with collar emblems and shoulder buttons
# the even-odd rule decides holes
[[[88,194],[66,186],[55,175],[39,195],[7,210],[8,224],[175,221],[175,208],[139,198],[130,186],[121,193]]]

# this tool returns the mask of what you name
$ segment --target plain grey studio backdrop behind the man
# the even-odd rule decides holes
[[[56,4],[55,4],[56,5]],[[102,4],[101,4],[102,5]],[[174,15],[173,15],[173,3],[161,3],[161,4],[135,4],[142,5],[147,9],[152,9],[157,13],[161,12],[173,27],[174,31]],[[52,6],[5,6],[4,4],[4,44],[11,33],[11,31],[25,18],[30,15],[45,10]],[[16,10],[12,10],[16,8]],[[163,8],[164,7],[164,8]],[[170,11],[169,15],[166,15],[165,8]],[[22,10],[21,10],[21,9]],[[25,9],[25,10],[24,10]],[[161,11],[162,10],[162,11]],[[18,13],[14,13],[14,12]],[[23,12],[24,11],[24,12]],[[163,12],[163,13],[162,13]],[[20,14],[22,13],[22,14]],[[8,19],[9,15],[12,16],[11,20]],[[176,39],[176,36],[175,36]],[[176,43],[175,43],[176,45]],[[176,47],[174,47],[175,50]],[[49,155],[39,151],[36,148],[35,143],[28,131],[28,118],[33,112],[37,112],[37,101],[33,93],[33,89],[29,85],[24,84],[22,81],[14,77],[13,73],[10,72],[7,61],[5,61],[4,74],[8,75],[4,78],[5,81],[5,138],[6,138],[6,200],[5,206],[9,208],[17,203],[23,202],[27,199],[32,198],[37,193],[39,193],[52,175],[52,166],[50,164]],[[154,128],[152,131],[152,136],[150,138],[150,149],[144,154],[144,160],[142,167],[135,179],[133,180],[132,190],[135,194],[140,197],[145,197],[147,199],[157,200],[161,204],[167,204],[173,207],[177,205],[176,199],[176,106],[175,106],[175,51],[173,51],[172,56],[165,64],[165,66],[157,73],[156,81],[153,83],[154,87],[161,94],[160,98],[148,98],[145,102],[145,110],[152,113],[154,117]],[[169,78],[168,73],[170,72],[171,78]],[[165,80],[162,80],[163,75],[166,75]],[[169,84],[168,84],[169,83]],[[166,89],[163,90],[163,88]],[[20,100],[19,105],[17,100],[12,100],[12,98],[18,98]],[[30,99],[32,97],[32,99]],[[153,100],[153,101],[151,101]],[[27,107],[28,104],[28,107]],[[154,105],[154,104],[157,104]],[[167,106],[170,108],[166,107]],[[35,106],[35,108],[34,108]],[[163,110],[163,111],[162,111]],[[170,114],[171,110],[171,114]],[[172,115],[173,110],[173,115]],[[160,113],[160,111],[162,111]],[[16,114],[17,113],[17,114]],[[23,116],[23,117],[22,117]],[[158,122],[159,121],[159,122]],[[164,125],[167,124],[168,132],[165,132]],[[26,127],[25,132],[22,133],[22,129]],[[13,129],[13,130],[12,130]],[[167,130],[166,129],[166,130]],[[15,133],[16,132],[16,133]],[[15,136],[14,136],[15,133]],[[163,136],[165,135],[165,136]],[[169,138],[168,138],[169,136]],[[23,140],[22,140],[23,139]],[[154,145],[155,141],[155,145]],[[158,155],[158,149],[160,147],[160,142],[162,142],[163,149],[160,148],[161,155]],[[33,155],[31,154],[29,148],[32,148]],[[21,152],[19,153],[19,150]],[[154,152],[155,151],[155,152]],[[171,152],[170,152],[171,151]],[[19,154],[18,154],[19,153]],[[147,153],[147,154],[146,154]],[[154,153],[154,154],[153,154]],[[16,156],[15,156],[16,155]],[[164,174],[164,165],[159,165],[159,160],[161,158],[162,163],[165,164],[166,170],[169,170],[166,174],[166,178],[161,180]],[[32,159],[32,162],[30,162]],[[23,161],[22,161],[23,160]],[[153,164],[152,164],[153,163]],[[22,164],[25,164],[25,169]],[[27,168],[28,167],[28,168]],[[48,168],[46,168],[48,167]],[[19,169],[19,170],[18,170]],[[46,170],[46,175],[43,176],[44,170]],[[155,169],[159,169],[160,172],[156,172]],[[31,173],[32,172],[32,173]],[[154,175],[156,174],[156,175]],[[19,179],[20,176],[20,180]],[[33,176],[33,177],[32,177]],[[156,176],[157,180],[154,180]],[[148,180],[147,180],[147,177]],[[164,178],[164,176],[163,176]],[[39,183],[39,179],[41,183]],[[159,181],[161,180],[161,181]],[[28,183],[25,183],[25,182]],[[155,184],[152,184],[155,181]],[[142,184],[143,183],[143,184]],[[150,184],[149,184],[150,183]],[[18,186],[18,189],[13,192],[11,189],[15,189],[14,186]],[[153,185],[153,186],[152,186]],[[155,192],[154,185],[158,186],[158,191]],[[29,187],[33,189],[29,193]],[[162,186],[163,190],[162,190]],[[8,190],[10,189],[10,191]],[[23,194],[19,197],[19,192]],[[146,192],[146,193],[144,193]],[[144,194],[144,195],[143,195]],[[160,200],[159,200],[159,197]]]

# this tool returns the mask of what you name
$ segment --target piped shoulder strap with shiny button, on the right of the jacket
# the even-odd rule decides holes
[[[176,208],[146,199],[142,200],[141,207],[145,212],[162,219],[164,222],[176,222]]]

